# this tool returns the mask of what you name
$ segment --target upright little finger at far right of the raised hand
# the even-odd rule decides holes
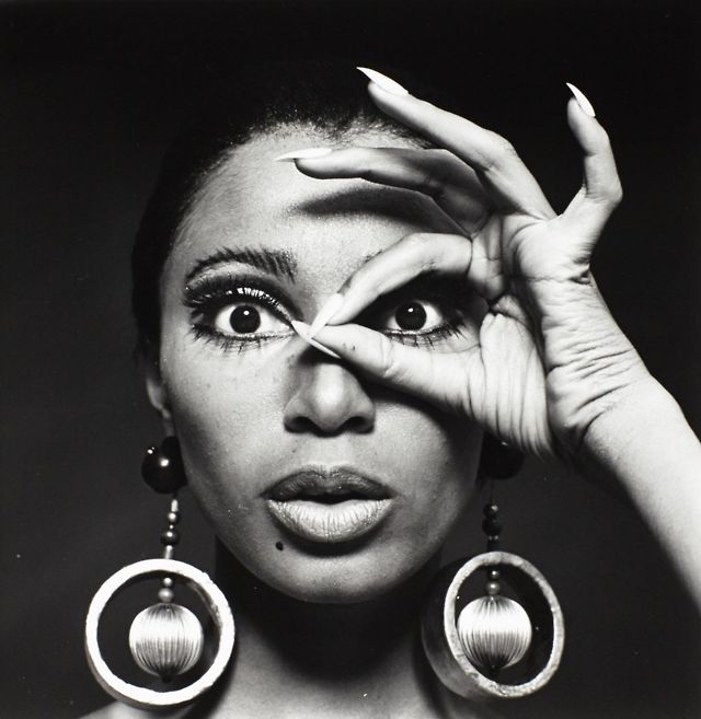
[[[574,98],[567,105],[567,120],[584,151],[584,183],[563,217],[586,230],[593,248],[623,192],[609,137],[598,120]]]

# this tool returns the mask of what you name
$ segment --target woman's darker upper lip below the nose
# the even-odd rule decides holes
[[[324,496],[341,499],[387,499],[390,490],[377,479],[348,467],[304,467],[275,483],[266,492],[268,499],[319,499]]]

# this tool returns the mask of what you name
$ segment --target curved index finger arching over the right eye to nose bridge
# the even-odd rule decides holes
[[[414,233],[365,263],[340,290],[343,302],[329,318],[335,325],[356,317],[378,298],[426,274],[458,278],[478,294],[496,295],[504,289],[497,259],[481,253],[458,234]],[[337,300],[333,300],[334,303]],[[320,311],[320,315],[324,309]],[[312,323],[317,326],[317,323]]]

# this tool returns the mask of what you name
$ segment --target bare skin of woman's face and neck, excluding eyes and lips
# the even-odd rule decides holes
[[[319,138],[287,131],[237,150],[200,198],[163,275],[159,371],[149,374],[148,390],[165,431],[180,438],[189,488],[220,538],[216,581],[229,595],[238,633],[218,692],[173,716],[489,717],[443,691],[418,643],[426,584],[473,494],[479,428],[363,381],[309,348],[265,305],[271,337],[222,351],[214,339],[194,337],[193,312],[183,304],[186,286],[223,278],[238,287],[256,272],[255,280],[275,285],[269,291],[285,308],[296,305],[292,316],[310,321],[368,256],[407,232],[449,227],[429,201],[404,190],[357,179],[321,183],[274,162],[289,142],[310,141]],[[237,259],[193,275],[221,247],[242,246],[287,252],[294,281]],[[220,314],[208,325],[219,326]],[[426,351],[452,343],[466,338],[451,335]],[[271,520],[265,492],[298,466],[338,462],[379,477],[391,489],[392,511],[353,550],[310,547]],[[143,716],[116,706],[106,711]]]

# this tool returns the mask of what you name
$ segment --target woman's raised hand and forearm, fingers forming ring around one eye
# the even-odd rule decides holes
[[[622,196],[604,128],[570,101],[584,183],[558,216],[504,138],[376,83],[369,92],[380,109],[450,152],[341,150],[299,160],[299,170],[425,193],[460,234],[409,236],[374,258],[340,288],[343,305],[314,338],[379,382],[622,489],[701,610],[701,444],[611,317],[589,269]],[[486,301],[469,350],[421,353],[345,324],[426,271],[461,274]]]

